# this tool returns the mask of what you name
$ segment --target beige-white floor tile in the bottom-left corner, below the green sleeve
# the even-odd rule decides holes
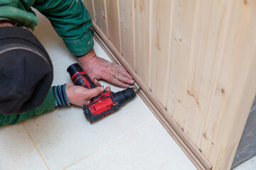
[[[0,169],[47,169],[21,123],[0,128]]]

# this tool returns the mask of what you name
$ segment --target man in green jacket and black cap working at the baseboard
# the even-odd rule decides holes
[[[53,66],[43,45],[27,30],[38,24],[31,7],[49,19],[95,89],[73,84],[53,86]],[[97,57],[93,50],[92,20],[81,0],[0,1],[0,126],[37,117],[55,106],[83,106],[104,88],[104,79],[127,88],[134,80],[124,67]],[[49,90],[50,89],[50,90]],[[106,90],[110,90],[107,87]]]

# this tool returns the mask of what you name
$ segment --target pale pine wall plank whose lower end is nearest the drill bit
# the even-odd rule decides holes
[[[151,0],[150,0],[151,1]],[[149,16],[150,1],[134,0],[136,72],[149,86]]]

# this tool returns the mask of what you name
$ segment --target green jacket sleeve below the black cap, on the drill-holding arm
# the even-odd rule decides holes
[[[18,115],[4,115],[0,113],[0,127],[4,125],[16,124],[22,120],[28,120],[29,118],[37,118],[43,113],[53,111],[55,108],[55,99],[53,96],[53,89],[50,88],[46,100],[43,104],[32,111],[21,113]]]

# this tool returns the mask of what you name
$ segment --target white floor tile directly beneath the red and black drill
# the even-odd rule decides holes
[[[71,82],[66,69],[74,62],[77,61],[72,55],[53,61],[53,85]],[[101,83],[107,86],[106,82]],[[112,91],[119,90],[122,89],[112,86]],[[53,170],[65,168],[152,119],[154,115],[137,96],[116,113],[92,125],[85,119],[82,108],[75,106],[55,109],[36,120],[27,120],[24,125]]]

